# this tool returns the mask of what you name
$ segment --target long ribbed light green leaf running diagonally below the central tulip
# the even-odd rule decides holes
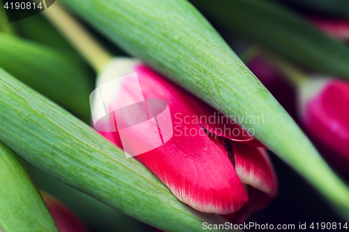
[[[164,231],[226,222],[178,201],[140,162],[2,69],[0,92],[0,139],[62,183]]]

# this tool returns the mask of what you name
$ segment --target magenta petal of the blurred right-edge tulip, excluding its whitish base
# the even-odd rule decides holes
[[[333,80],[310,100],[302,114],[307,132],[349,164],[349,83]],[[334,155],[331,153],[330,155]],[[330,157],[329,159],[336,159]],[[342,165],[341,164],[341,165]]]

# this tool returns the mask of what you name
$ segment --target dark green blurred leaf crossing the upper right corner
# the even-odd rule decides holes
[[[349,79],[349,48],[291,10],[266,0],[190,0],[202,13],[252,42],[316,72]]]

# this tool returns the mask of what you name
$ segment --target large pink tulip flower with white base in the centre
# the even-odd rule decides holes
[[[135,158],[168,186],[177,199],[201,212],[227,215],[248,203],[250,187],[246,185],[269,198],[275,196],[276,175],[264,146],[235,124],[233,116],[223,116],[142,63],[131,59],[114,59],[101,73],[97,86],[132,72],[137,73],[142,93],[133,91],[138,83],[120,82],[116,93],[105,99],[106,107],[114,107],[125,95],[135,102],[144,98],[148,107],[147,119],[150,119],[150,111],[163,110],[161,104],[151,105],[151,102],[161,99],[168,103],[172,138]],[[142,114],[141,111],[133,108],[131,114],[118,118],[120,120],[121,117],[126,123],[131,122]],[[255,118],[239,118],[252,119]],[[133,146],[138,146],[144,140],[151,144],[158,137],[147,128],[134,130],[133,133],[137,134],[139,140],[134,140]],[[101,134],[123,147],[119,132]]]

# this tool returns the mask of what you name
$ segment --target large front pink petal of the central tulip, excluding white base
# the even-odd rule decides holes
[[[136,66],[135,71],[146,102],[161,99],[168,103],[173,127],[172,138],[168,140],[163,137],[164,141],[168,140],[163,146],[136,155],[135,158],[158,176],[174,196],[196,210],[224,215],[242,208],[248,197],[232,162],[207,137],[200,125],[200,116],[208,117],[205,112],[210,111],[211,107],[144,65]],[[123,82],[122,86],[129,89],[133,84]],[[138,99],[138,96],[135,98]],[[122,98],[116,95],[115,100],[118,99]],[[122,115],[124,114],[117,118],[120,119]],[[133,111],[123,121],[135,121],[137,118],[133,117],[138,115],[138,110]],[[150,116],[151,114],[148,117]],[[158,123],[165,123],[165,118],[160,117]],[[119,128],[118,121],[117,127]],[[108,138],[113,137],[112,133],[118,134],[101,132]],[[140,130],[136,135],[149,141],[158,137],[157,134],[149,133],[149,130]],[[120,145],[119,139],[113,138],[110,141]],[[129,140],[127,146],[139,146],[139,141]]]

